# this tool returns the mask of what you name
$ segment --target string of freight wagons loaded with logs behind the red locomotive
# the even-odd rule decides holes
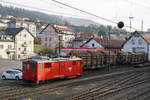
[[[116,64],[138,64],[147,61],[146,53],[113,53],[111,51],[86,51],[68,53],[70,56],[82,58],[84,69],[107,67]]]

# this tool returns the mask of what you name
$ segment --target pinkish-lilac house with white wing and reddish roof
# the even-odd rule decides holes
[[[41,46],[50,46],[52,49],[58,47],[59,42],[64,47],[70,47],[72,46],[72,40],[75,38],[70,27],[55,24],[48,24],[40,34]]]

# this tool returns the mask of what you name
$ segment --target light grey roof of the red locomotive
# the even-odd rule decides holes
[[[59,61],[72,61],[81,60],[81,58],[71,57],[71,58],[30,58],[25,59],[24,62],[59,62]]]

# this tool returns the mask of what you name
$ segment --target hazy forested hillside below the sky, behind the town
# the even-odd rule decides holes
[[[21,16],[25,18],[30,18],[31,21],[41,20],[43,22],[49,22],[53,24],[69,25],[75,32],[86,32],[86,33],[97,33],[99,35],[106,36],[108,34],[107,26],[95,23],[88,19],[78,19],[78,18],[67,18],[64,17],[62,20],[61,16],[49,15],[37,11],[29,11],[17,7],[6,7],[0,4],[0,14],[1,15],[11,15],[11,16]],[[117,27],[111,27],[111,34],[127,34],[126,30],[118,29]]]

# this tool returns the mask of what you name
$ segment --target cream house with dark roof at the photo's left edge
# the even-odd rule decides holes
[[[7,28],[0,32],[0,58],[25,59],[34,54],[34,37],[25,28]]]

